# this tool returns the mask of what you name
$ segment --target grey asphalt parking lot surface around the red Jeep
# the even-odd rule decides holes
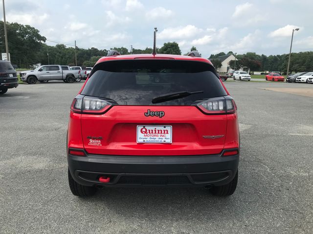
[[[225,82],[238,106],[234,195],[204,189],[104,189],[67,184],[69,107],[83,82],[22,84],[0,97],[0,233],[313,233],[313,98]]]

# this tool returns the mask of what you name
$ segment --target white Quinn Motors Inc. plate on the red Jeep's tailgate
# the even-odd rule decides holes
[[[172,143],[172,126],[137,125],[137,143]]]

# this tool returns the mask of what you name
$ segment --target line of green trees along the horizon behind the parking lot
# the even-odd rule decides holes
[[[5,53],[3,21],[0,21],[0,52]],[[75,48],[67,47],[60,43],[55,46],[45,44],[46,38],[40,35],[38,29],[30,25],[19,23],[7,23],[8,46],[12,64],[19,67],[29,68],[32,64],[62,64],[75,65]],[[152,48],[145,49],[133,48],[129,51],[125,47],[113,47],[122,55],[127,54],[151,54]],[[192,47],[190,51],[197,50]],[[92,67],[102,56],[106,56],[109,49],[99,50],[91,47],[88,49],[76,47],[77,65]],[[177,42],[164,43],[161,48],[157,48],[158,54],[181,55],[181,50]],[[229,51],[227,54],[234,54]],[[185,54],[187,55],[187,53]],[[224,52],[212,54],[208,59],[211,60],[216,68],[222,66],[219,56],[226,55]],[[248,52],[242,55],[236,55],[236,68],[250,69],[251,71],[286,71],[288,63],[288,54],[283,55],[257,55]],[[234,61],[229,63],[230,68],[234,69]],[[290,70],[312,71],[313,70],[313,51],[291,53]]]

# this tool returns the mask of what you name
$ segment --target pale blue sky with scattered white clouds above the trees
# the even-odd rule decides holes
[[[204,58],[286,54],[295,28],[292,52],[312,51],[312,9],[313,0],[5,0],[6,21],[67,46],[144,49],[157,27],[157,47],[176,41],[182,54],[196,46]]]

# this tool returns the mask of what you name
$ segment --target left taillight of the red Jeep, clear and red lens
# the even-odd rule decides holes
[[[72,112],[80,114],[103,114],[111,106],[111,103],[101,98],[77,95],[70,109]]]

